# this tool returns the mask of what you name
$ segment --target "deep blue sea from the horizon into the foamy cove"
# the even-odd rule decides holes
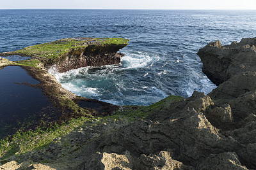
[[[189,97],[215,85],[202,73],[199,48],[256,36],[256,11],[0,10],[0,52],[72,37],[129,38],[115,66],[54,73],[72,92],[113,104]],[[1,81],[1,80],[0,80]]]

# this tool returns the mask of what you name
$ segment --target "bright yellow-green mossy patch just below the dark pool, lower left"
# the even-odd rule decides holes
[[[79,125],[87,122],[90,124],[92,118],[81,117],[72,119],[61,125],[54,124],[48,127],[38,127],[35,130],[16,132],[12,139],[6,138],[0,141],[0,159],[4,160],[10,156],[26,153],[34,149],[46,147],[56,138],[61,138],[73,131]]]

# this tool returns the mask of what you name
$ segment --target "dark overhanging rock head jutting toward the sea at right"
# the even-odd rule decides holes
[[[241,39],[240,43],[221,45],[211,42],[198,51],[203,62],[202,71],[216,85],[235,74],[256,69],[256,38]]]

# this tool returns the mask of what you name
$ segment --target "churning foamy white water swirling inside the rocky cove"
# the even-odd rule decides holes
[[[172,80],[173,77],[169,64],[172,67],[179,66],[179,64],[171,64],[182,61],[172,58],[171,61],[169,59],[169,62],[166,62],[167,59],[162,57],[161,62],[157,62],[160,57],[154,55],[154,53],[127,52],[122,58],[121,64],[82,67],[72,69],[66,73],[58,73],[56,67],[53,66],[49,69],[49,73],[56,76],[65,89],[79,96],[99,99],[100,101],[118,105],[148,105],[170,95],[168,90],[164,88],[166,87],[164,81],[167,78]],[[155,67],[158,69],[155,69]],[[159,70],[159,67],[162,67],[162,69]],[[211,83],[207,78],[204,78],[204,75],[193,71],[191,67],[185,67],[185,69],[187,69],[188,75],[177,74],[177,76],[183,76],[186,80],[178,81],[179,83],[176,83],[178,87],[174,87],[174,89],[177,88],[177,91],[182,92],[183,96],[191,96],[194,90],[210,91],[209,89],[212,89]],[[146,81],[145,78],[140,79],[141,76],[136,74],[137,72],[142,77],[148,76],[150,82]]]

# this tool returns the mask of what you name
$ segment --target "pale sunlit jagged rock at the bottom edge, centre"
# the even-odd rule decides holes
[[[192,169],[190,166],[185,166],[182,162],[173,160],[170,152],[161,151],[158,155],[141,154],[140,157],[134,157],[129,151],[123,154],[116,153],[95,153],[90,157],[90,162],[84,162],[79,166],[79,169]]]

